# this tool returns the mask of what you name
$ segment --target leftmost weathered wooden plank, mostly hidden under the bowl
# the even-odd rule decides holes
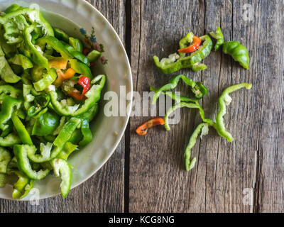
[[[96,6],[125,40],[124,0],[89,1]],[[124,211],[124,138],[109,162],[96,175],[62,200],[61,196],[41,200],[39,206],[23,201],[0,199],[3,212],[123,212]]]

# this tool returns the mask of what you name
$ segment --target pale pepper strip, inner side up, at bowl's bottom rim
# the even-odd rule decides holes
[[[62,182],[60,184],[61,194],[63,199],[70,192],[71,182],[72,182],[72,171],[70,164],[61,158],[55,158],[51,165],[53,166],[53,172],[56,177],[60,177]]]

